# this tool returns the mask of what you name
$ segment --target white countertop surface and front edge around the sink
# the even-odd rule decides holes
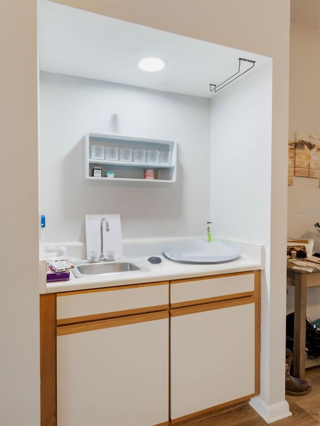
[[[261,269],[261,262],[249,259],[245,256],[245,254],[232,261],[206,265],[178,263],[168,260],[162,255],[159,255],[159,257],[161,258],[161,263],[156,265],[149,263],[147,261],[147,257],[121,259],[122,262],[131,262],[137,266],[142,266],[143,268],[147,269],[147,271],[142,272],[122,272],[120,274],[110,274],[101,278],[93,278],[89,276],[85,278],[75,278],[72,272],[70,272],[69,281],[49,282],[46,284],[46,292],[57,293],[74,290],[86,290]]]

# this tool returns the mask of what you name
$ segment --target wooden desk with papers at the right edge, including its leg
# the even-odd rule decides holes
[[[305,360],[305,319],[306,289],[320,287],[320,271],[313,272],[292,269],[293,263],[287,262],[286,283],[294,287],[294,343],[292,376],[304,379],[305,368],[318,366],[316,360]]]

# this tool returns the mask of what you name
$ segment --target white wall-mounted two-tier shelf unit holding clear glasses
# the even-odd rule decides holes
[[[144,181],[144,182],[175,182],[176,180],[176,141],[162,139],[148,139],[140,137],[129,137],[120,135],[104,135],[99,133],[87,133],[84,138],[84,177],[89,180],[103,181]],[[132,160],[121,161],[110,159],[92,158],[92,145],[102,145],[103,148],[114,146],[120,150],[121,148],[132,149]],[[169,153],[169,162],[137,162],[134,161],[135,149],[143,149],[145,151],[159,151]],[[103,149],[102,149],[103,151]],[[105,156],[106,158],[106,156]],[[101,167],[102,176],[94,177],[93,168]],[[145,179],[145,170],[152,170],[154,179]],[[107,171],[113,171],[114,177],[107,178]]]

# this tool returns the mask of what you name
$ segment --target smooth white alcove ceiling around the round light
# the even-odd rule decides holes
[[[238,58],[256,61],[250,73],[270,61],[47,0],[38,3],[38,54],[42,71],[206,98],[214,94],[210,83],[218,85],[238,71]],[[137,61],[144,56],[160,56],[167,66],[141,71]],[[240,71],[250,65],[241,62]]]

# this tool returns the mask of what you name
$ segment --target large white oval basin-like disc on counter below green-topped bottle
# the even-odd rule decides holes
[[[167,259],[183,263],[218,263],[236,259],[242,252],[236,241],[215,238],[212,242],[196,238],[172,245],[163,254]]]

